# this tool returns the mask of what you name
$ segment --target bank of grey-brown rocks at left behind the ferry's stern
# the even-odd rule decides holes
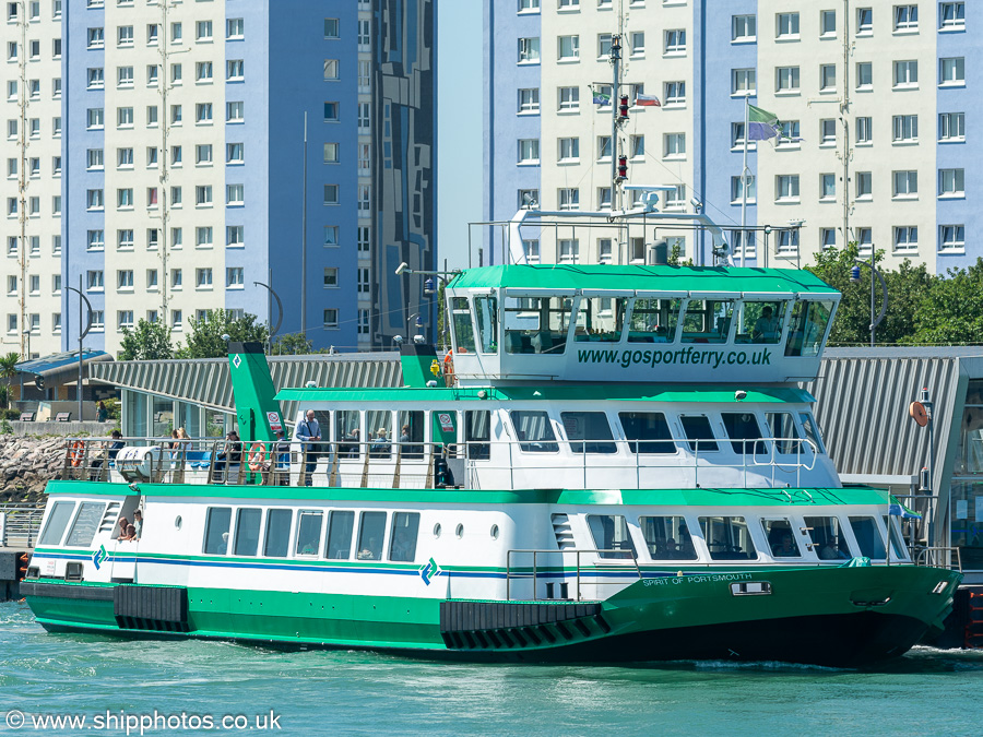
[[[61,436],[0,436],[0,502],[44,501],[63,462]]]

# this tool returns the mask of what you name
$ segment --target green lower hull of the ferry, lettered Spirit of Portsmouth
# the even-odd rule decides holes
[[[25,586],[37,620],[49,630],[466,659],[723,657],[854,665],[901,655],[940,630],[959,579],[950,571],[911,566],[745,569],[644,579],[604,602],[576,605],[190,589],[180,627],[150,615],[118,617],[111,584],[40,581]],[[944,590],[934,593],[943,582]]]

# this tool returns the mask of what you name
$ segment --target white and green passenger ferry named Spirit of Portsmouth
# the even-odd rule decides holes
[[[800,385],[834,289],[523,264],[446,298],[452,373],[411,342],[401,389],[276,393],[233,344],[241,445],[72,441],[22,586],[37,620],[529,662],[852,665],[940,631],[959,574],[912,562],[886,491],[840,484]],[[277,442],[307,411],[321,441]]]

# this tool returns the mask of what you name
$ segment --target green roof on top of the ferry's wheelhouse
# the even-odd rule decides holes
[[[818,276],[795,269],[739,269],[723,266],[621,266],[599,264],[543,264],[469,269],[448,284],[466,288],[577,289],[624,292],[707,292],[750,294],[809,294],[838,296]]]

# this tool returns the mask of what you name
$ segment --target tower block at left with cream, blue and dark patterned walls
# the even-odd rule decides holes
[[[316,346],[405,334],[426,302],[395,269],[435,263],[433,0],[5,5],[13,349],[76,345],[62,283],[109,352],[140,319],[275,322],[268,286]]]

